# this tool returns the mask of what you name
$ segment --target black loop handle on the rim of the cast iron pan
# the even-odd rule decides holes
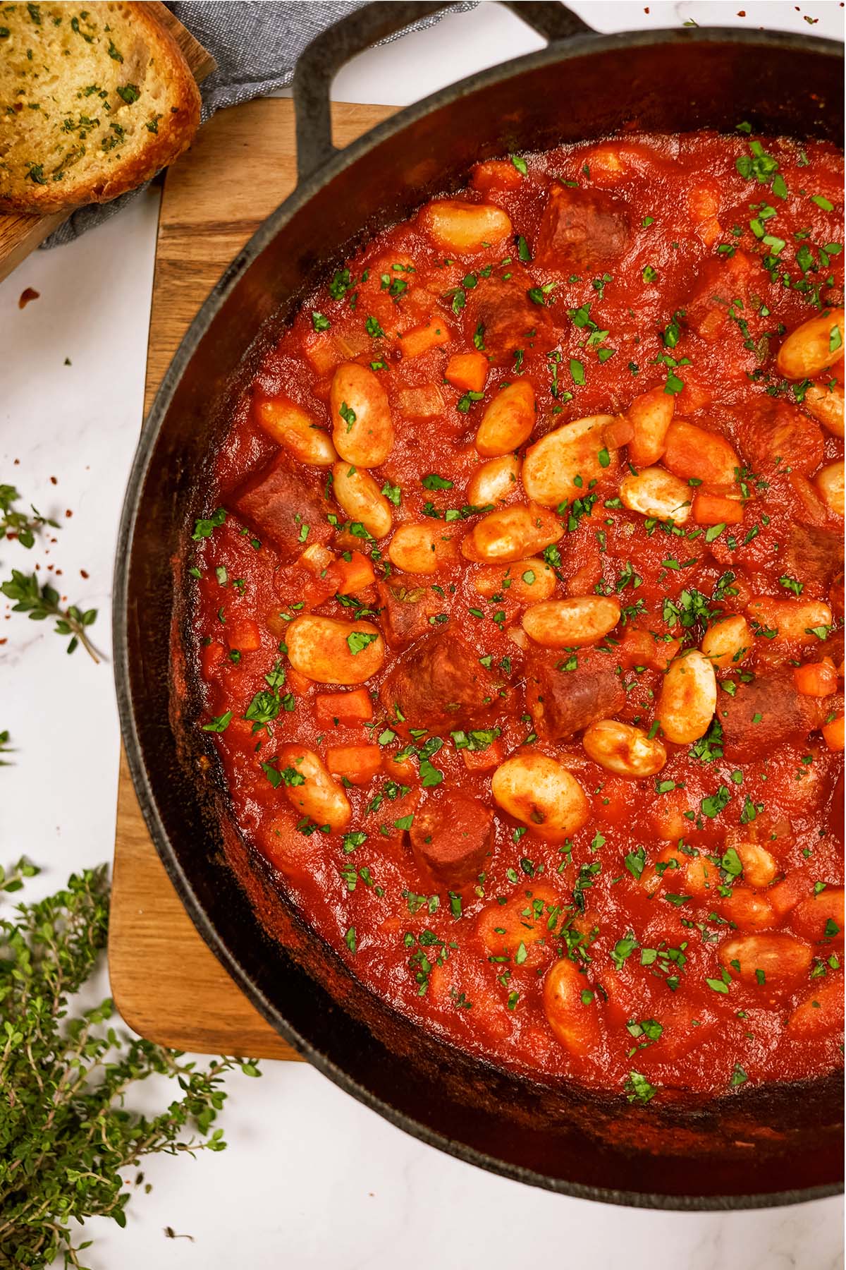
[[[594,34],[557,0],[500,0],[521,22],[531,27],[548,43]],[[455,0],[377,0],[334,23],[306,46],[293,77],[294,114],[297,119],[297,178],[304,180],[322,168],[339,151],[332,145],[330,89],[336,74],[356,53],[370,44],[396,36],[397,32],[431,14],[454,8]]]

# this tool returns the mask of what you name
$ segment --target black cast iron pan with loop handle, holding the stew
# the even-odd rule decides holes
[[[303,55],[299,185],[203,305],[146,422],[114,585],[115,678],[129,768],[159,853],[209,947],[268,1021],[341,1088],[452,1154],[569,1195],[674,1209],[755,1208],[840,1189],[840,1081],[648,1107],[537,1085],[415,1029],[297,917],[231,818],[197,726],[186,544],[238,396],[313,284],[478,159],[619,128],[733,131],[842,144],[840,46],[736,29],[597,36],[558,4],[511,4],[540,52],[435,93],[344,152],[329,89],[354,53],[438,4],[373,4]],[[211,759],[211,762],[209,762]]]

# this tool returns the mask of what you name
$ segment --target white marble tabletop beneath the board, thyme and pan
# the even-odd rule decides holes
[[[831,0],[572,8],[600,30],[694,19],[842,38],[842,5]],[[356,58],[337,76],[335,95],[411,102],[539,44],[516,17],[483,3]],[[68,601],[100,608],[93,635],[107,663],[114,540],[142,408],[156,208],[156,196],[146,196],[80,243],[30,257],[0,286],[0,481],[62,525],[49,551],[0,542],[0,572],[61,568]],[[41,298],[20,311],[24,287]],[[58,636],[8,617],[6,606],[0,639],[0,730],[10,729],[18,751],[15,765],[0,770],[1,859],[27,851],[46,866],[30,888],[37,895],[112,853],[110,667],[81,652],[66,658]],[[133,1200],[126,1231],[91,1223],[94,1270],[506,1270],[564,1257],[594,1270],[623,1260],[651,1270],[842,1265],[837,1199],[762,1213],[656,1214],[549,1195],[413,1142],[301,1064],[265,1063],[259,1082],[235,1078],[225,1124],[223,1154],[150,1163],[153,1191]],[[166,1226],[193,1238],[169,1240]]]

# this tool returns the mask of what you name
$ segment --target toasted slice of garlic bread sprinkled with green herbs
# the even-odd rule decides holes
[[[151,9],[0,5],[0,211],[105,203],[186,149],[199,91]]]

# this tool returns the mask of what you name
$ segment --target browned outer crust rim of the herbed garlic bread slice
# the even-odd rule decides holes
[[[53,8],[76,11],[76,5]],[[94,11],[100,6],[94,6]],[[147,131],[143,144],[124,157],[112,159],[79,171],[71,168],[61,182],[38,184],[14,175],[3,180],[0,173],[0,211],[47,215],[72,211],[85,203],[107,203],[136,189],[167,166],[190,145],[200,117],[199,89],[171,33],[151,13],[151,6],[133,0],[119,4],[120,15],[143,38],[155,55],[155,74],[167,85],[171,105],[159,117],[157,131]],[[72,66],[68,67],[68,71]],[[0,66],[0,81],[1,81]],[[41,156],[33,156],[39,159]],[[5,188],[4,188],[5,185]]]

